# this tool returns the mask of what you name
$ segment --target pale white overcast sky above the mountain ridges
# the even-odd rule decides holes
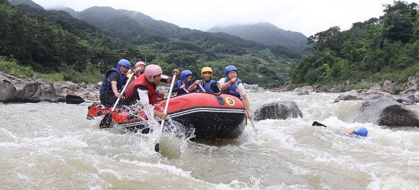
[[[182,28],[206,31],[212,26],[270,22],[307,37],[332,26],[350,29],[383,15],[392,0],[32,0],[44,8],[65,6],[82,11],[92,6],[135,10]],[[412,0],[407,2],[411,3]]]

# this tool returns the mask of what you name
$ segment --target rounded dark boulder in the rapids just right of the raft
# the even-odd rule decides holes
[[[293,101],[282,100],[263,104],[253,112],[253,120],[285,120],[286,118],[302,118],[302,113]]]

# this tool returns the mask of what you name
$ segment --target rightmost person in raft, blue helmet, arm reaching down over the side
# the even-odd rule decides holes
[[[234,95],[239,99],[241,99],[241,95],[243,97],[242,101],[244,102],[244,104],[246,104],[247,108],[249,109],[247,110],[247,118],[253,118],[253,116],[251,115],[250,102],[249,99],[247,99],[246,90],[244,89],[242,80],[237,78],[237,68],[235,68],[235,66],[233,65],[228,65],[224,70],[224,76],[226,77],[221,78],[219,80],[221,93]]]

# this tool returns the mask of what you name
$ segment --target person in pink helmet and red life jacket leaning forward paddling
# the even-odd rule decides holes
[[[172,74],[179,74],[179,70],[173,70]],[[157,98],[163,99],[164,97],[162,92],[156,90],[159,83],[162,81],[170,84],[172,80],[175,80],[173,75],[171,77],[163,75],[163,70],[161,70],[159,65],[148,65],[145,67],[144,74],[141,74],[140,77],[128,84],[125,98],[131,104],[140,102],[140,105],[145,105],[156,102]],[[166,119],[167,114],[154,109],[154,116]]]

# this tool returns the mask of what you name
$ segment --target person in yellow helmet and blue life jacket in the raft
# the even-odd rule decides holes
[[[198,88],[200,92],[213,94],[221,93],[218,81],[211,80],[212,69],[210,67],[205,67],[201,70],[201,77],[203,77],[202,80],[196,80],[191,86],[189,86],[189,92],[196,90],[200,85],[201,87]]]

